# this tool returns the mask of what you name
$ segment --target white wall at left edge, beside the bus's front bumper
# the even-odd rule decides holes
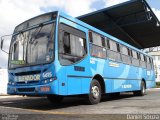
[[[7,94],[8,71],[0,69],[0,95]]]

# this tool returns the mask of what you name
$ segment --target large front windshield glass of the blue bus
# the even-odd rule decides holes
[[[12,37],[9,67],[49,63],[53,60],[55,25],[48,24]]]

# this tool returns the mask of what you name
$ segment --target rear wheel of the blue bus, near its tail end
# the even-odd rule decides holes
[[[144,96],[146,94],[146,85],[144,81],[141,82],[141,89],[133,92],[135,96]]]

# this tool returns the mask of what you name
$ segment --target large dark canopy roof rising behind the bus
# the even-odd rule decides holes
[[[77,18],[136,48],[160,46],[160,21],[145,0],[131,0]]]

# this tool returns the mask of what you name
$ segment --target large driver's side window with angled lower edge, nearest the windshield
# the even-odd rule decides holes
[[[59,40],[60,63],[70,65],[83,59],[87,54],[86,39],[65,31],[61,36]]]

